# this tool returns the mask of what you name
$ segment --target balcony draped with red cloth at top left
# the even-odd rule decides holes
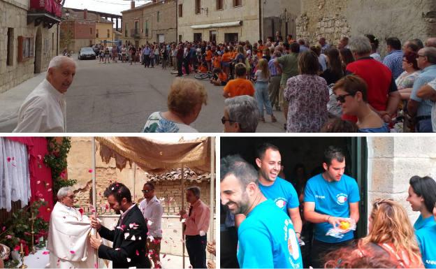
[[[43,24],[43,27],[51,28],[61,22],[61,0],[30,0],[30,8],[27,12],[27,24],[34,22],[35,26]]]

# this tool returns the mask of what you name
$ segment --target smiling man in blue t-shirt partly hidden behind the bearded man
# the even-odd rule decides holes
[[[291,217],[293,228],[300,238],[303,226],[298,207],[300,203],[292,184],[278,176],[282,165],[279,148],[270,143],[259,145],[256,149],[256,165],[262,194]]]

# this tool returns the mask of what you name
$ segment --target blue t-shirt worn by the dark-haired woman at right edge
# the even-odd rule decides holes
[[[424,219],[422,215],[414,224],[416,240],[418,240],[419,249],[424,266],[426,268],[436,268],[436,221],[433,215]]]

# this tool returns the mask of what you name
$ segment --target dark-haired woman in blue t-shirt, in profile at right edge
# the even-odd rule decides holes
[[[415,175],[409,184],[407,201],[413,211],[421,212],[414,228],[423,263],[426,268],[436,268],[436,182],[431,177]]]

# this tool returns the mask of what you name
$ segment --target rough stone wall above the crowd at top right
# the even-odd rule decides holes
[[[402,42],[436,36],[433,0],[305,0],[301,1],[297,36],[314,44],[324,36],[337,45],[342,36],[374,34],[380,41],[395,36]],[[386,43],[380,43],[382,53]]]

